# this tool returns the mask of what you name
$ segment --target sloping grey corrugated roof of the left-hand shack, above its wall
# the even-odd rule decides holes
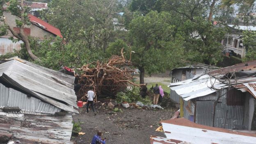
[[[73,83],[75,77],[13,59],[0,64],[0,80],[62,110],[78,113]]]

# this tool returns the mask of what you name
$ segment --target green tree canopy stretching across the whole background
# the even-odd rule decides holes
[[[24,7],[24,13],[21,13],[17,0],[7,1],[11,4],[7,10],[23,17],[16,21],[16,25],[29,25],[29,9]],[[234,16],[236,8],[248,18],[245,25],[251,22],[253,18],[246,14],[254,12],[254,1],[40,0],[49,2],[40,18],[58,27],[64,38],[39,42],[28,37],[29,44],[23,44],[26,49],[16,54],[31,60],[29,55],[32,53],[41,59],[39,64],[59,69],[104,61],[111,55],[120,55],[124,48],[126,58],[131,55],[134,66],[141,71],[140,83],[144,83],[144,72],[157,73],[187,62],[214,65],[222,61],[220,41],[229,32],[226,25],[238,23]],[[6,0],[0,2],[3,6]],[[213,25],[213,21],[222,25]],[[118,29],[120,27],[122,30]],[[0,34],[4,35],[7,29],[8,25],[1,25]],[[254,33],[244,34],[249,52],[247,57],[254,59],[254,41],[251,39]],[[23,39],[20,35],[17,37]],[[31,53],[27,46],[31,47]]]

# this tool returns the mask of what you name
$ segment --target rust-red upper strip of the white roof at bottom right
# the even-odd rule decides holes
[[[204,125],[194,123],[194,122],[189,121],[184,118],[170,119],[170,120],[160,121],[160,122],[179,125],[179,126],[187,126],[187,127],[191,127],[191,128],[200,128],[203,130],[213,130],[213,131],[222,132],[222,133],[231,133],[231,134],[236,134],[236,135],[245,135],[245,136],[249,136],[249,137],[256,137],[256,134],[254,134],[254,133],[237,132],[237,131],[232,131],[232,130],[228,130],[228,129],[224,129],[224,128],[204,126]]]

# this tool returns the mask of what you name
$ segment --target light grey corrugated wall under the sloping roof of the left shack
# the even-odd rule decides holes
[[[0,83],[0,108],[7,106],[19,107],[23,113],[30,114],[55,114],[55,112],[61,111],[58,107],[45,103],[32,96],[27,96],[15,89],[5,87],[5,85]]]

